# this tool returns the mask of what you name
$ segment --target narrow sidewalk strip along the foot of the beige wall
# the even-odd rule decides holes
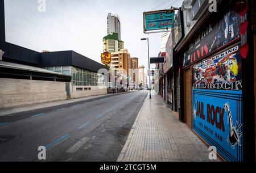
[[[6,116],[6,115],[11,115],[13,113],[26,112],[26,111],[31,111],[31,110],[35,110],[35,109],[48,108],[48,107],[69,104],[69,103],[82,102],[82,101],[86,101],[86,100],[90,100],[90,99],[101,98],[104,96],[114,96],[114,95],[127,94],[127,93],[129,93],[129,92],[120,92],[120,93],[115,93],[115,94],[110,93],[110,94],[104,94],[104,95],[98,95],[98,96],[88,96],[85,98],[59,100],[59,101],[54,101],[54,102],[31,104],[31,105],[22,106],[22,107],[6,108],[6,109],[1,109],[0,117]]]

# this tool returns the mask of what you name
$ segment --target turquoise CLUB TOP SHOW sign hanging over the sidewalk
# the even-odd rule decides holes
[[[143,12],[144,33],[146,31],[172,28],[175,11],[159,10]]]

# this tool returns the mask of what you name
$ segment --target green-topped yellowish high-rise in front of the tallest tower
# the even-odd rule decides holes
[[[118,39],[118,33],[113,32],[103,37],[104,52],[119,52],[121,49],[123,49],[123,41]]]

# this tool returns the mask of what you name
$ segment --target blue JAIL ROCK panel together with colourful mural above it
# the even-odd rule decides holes
[[[243,161],[239,45],[193,66],[193,130],[226,160]]]

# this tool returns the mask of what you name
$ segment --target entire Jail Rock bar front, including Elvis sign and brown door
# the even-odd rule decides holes
[[[247,53],[246,14],[226,9],[203,24],[183,58],[184,123],[225,161],[244,161],[245,112],[243,71]],[[216,18],[217,19],[217,18]],[[247,143],[247,142],[246,142]]]

